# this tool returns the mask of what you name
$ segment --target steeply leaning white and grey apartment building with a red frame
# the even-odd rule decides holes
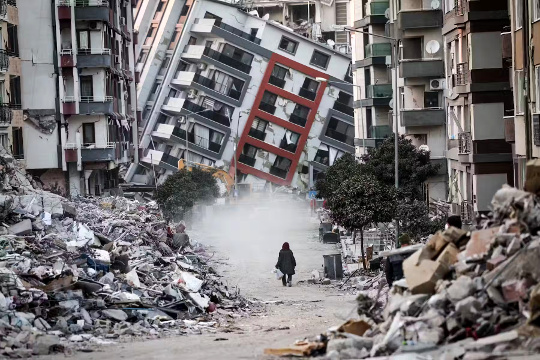
[[[239,183],[307,189],[354,151],[348,56],[226,3],[196,0],[188,14],[128,181],[159,183],[187,158]]]

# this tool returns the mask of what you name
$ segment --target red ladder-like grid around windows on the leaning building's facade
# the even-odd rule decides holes
[[[238,157],[240,154],[242,154],[242,150],[244,148],[245,144],[251,144],[255,147],[258,147],[260,149],[263,149],[265,151],[271,152],[275,155],[282,156],[284,158],[291,160],[291,167],[289,169],[289,172],[287,174],[286,179],[282,179],[278,176],[274,176],[270,173],[257,170],[251,166],[242,164],[238,162],[238,170],[243,172],[244,174],[251,174],[255,175],[261,179],[271,181],[278,185],[290,185],[292,182],[292,179],[294,177],[294,174],[296,173],[296,167],[298,166],[298,162],[300,161],[300,157],[302,156],[302,151],[304,150],[304,146],[306,145],[309,132],[311,130],[311,126],[313,125],[313,121],[315,120],[315,115],[317,115],[317,109],[319,108],[319,105],[321,103],[321,99],[324,94],[324,90],[326,89],[326,82],[321,82],[319,85],[319,89],[317,90],[317,95],[315,97],[314,101],[305,99],[301,96],[298,96],[296,94],[293,94],[287,90],[283,90],[277,86],[274,86],[269,83],[270,75],[272,74],[272,70],[274,69],[274,65],[276,63],[279,63],[281,65],[284,65],[290,69],[297,70],[307,76],[316,78],[316,77],[322,77],[325,79],[328,79],[328,75],[317,71],[315,69],[310,68],[309,66],[305,66],[302,64],[297,63],[296,61],[289,59],[285,56],[281,56],[279,54],[273,53],[272,57],[270,58],[270,61],[268,62],[268,66],[266,68],[266,72],[264,73],[263,80],[261,82],[261,86],[259,87],[259,91],[257,93],[257,96],[255,97],[255,101],[253,102],[253,106],[251,108],[251,112],[249,114],[249,117],[246,121],[246,125],[244,126],[244,131],[242,132],[242,136],[240,137],[240,140],[238,142],[238,147],[236,149],[235,156]],[[288,99],[291,101],[294,101],[297,104],[304,105],[310,109],[309,115],[306,121],[306,126],[301,127],[299,125],[293,124],[287,120],[278,118],[272,114],[269,114],[267,112],[264,112],[262,110],[259,110],[259,104],[261,103],[263,94],[265,91],[269,91],[273,94],[276,94],[284,99]],[[287,130],[294,131],[298,134],[300,134],[300,138],[298,140],[298,145],[296,147],[296,152],[291,153],[289,151],[283,150],[275,145],[268,144],[264,141],[260,141],[258,139],[250,137],[249,129],[251,128],[251,125],[253,124],[253,120],[255,120],[255,117],[258,117],[260,119],[269,121],[271,123],[274,123],[276,125],[279,125]],[[234,159],[231,161],[231,175],[234,174]]]

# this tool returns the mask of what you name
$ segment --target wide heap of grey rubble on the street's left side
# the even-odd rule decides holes
[[[216,331],[258,310],[155,203],[69,202],[0,152],[0,357]]]

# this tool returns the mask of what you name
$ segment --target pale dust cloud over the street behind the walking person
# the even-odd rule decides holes
[[[279,285],[271,271],[284,242],[289,242],[297,262],[293,283],[321,269],[320,252],[328,245],[318,241],[318,223],[309,211],[308,202],[290,197],[214,206],[193,226],[193,237],[226,258],[225,275],[234,282],[231,285],[249,289],[252,296],[268,297],[268,287]]]

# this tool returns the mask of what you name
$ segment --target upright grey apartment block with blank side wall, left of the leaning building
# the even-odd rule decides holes
[[[18,0],[24,162],[45,188],[100,195],[136,160],[132,7]],[[134,145],[135,143],[135,145]]]

